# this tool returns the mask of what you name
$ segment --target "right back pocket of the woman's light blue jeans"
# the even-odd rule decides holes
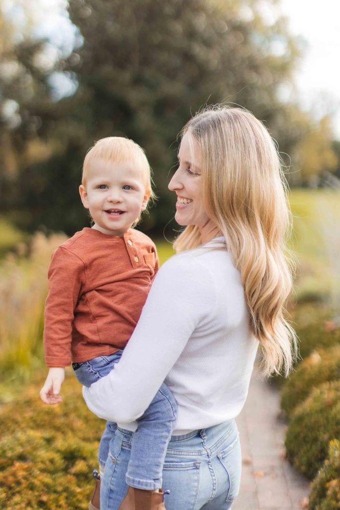
[[[229,491],[226,501],[233,501],[239,495],[241,483],[242,456],[240,438],[237,437],[224,450],[219,451],[217,457],[229,479]]]

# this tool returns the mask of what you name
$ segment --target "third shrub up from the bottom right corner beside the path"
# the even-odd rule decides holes
[[[340,380],[340,345],[312,352],[285,380],[281,395],[283,411],[290,416],[313,388],[332,380]]]

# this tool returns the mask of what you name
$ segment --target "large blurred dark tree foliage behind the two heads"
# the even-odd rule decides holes
[[[275,4],[270,0],[268,9]],[[174,211],[167,182],[176,135],[202,105],[220,101],[265,120],[280,151],[296,155],[301,167],[299,144],[319,151],[313,172],[331,168],[330,136],[319,144],[323,126],[312,132],[309,116],[280,99],[292,87],[301,50],[286,19],[273,21],[268,12],[258,0],[69,0],[83,44],[48,69],[35,57],[43,41],[14,45],[13,62],[22,70],[20,83],[29,80],[29,94],[11,89],[13,80],[6,89],[8,72],[0,69],[2,95],[21,116],[20,125],[0,133],[0,143],[19,155],[11,179],[3,176],[5,184],[16,180],[11,193],[3,185],[3,208],[14,209],[21,227],[79,230],[87,224],[77,196],[86,150],[101,137],[127,136],[146,150],[160,197],[143,228],[161,233]],[[56,70],[77,84],[74,95],[59,101],[47,80]]]

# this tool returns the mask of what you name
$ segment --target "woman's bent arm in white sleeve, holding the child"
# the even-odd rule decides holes
[[[118,423],[139,418],[194,329],[214,310],[212,278],[196,259],[175,256],[162,266],[121,360],[109,375],[83,388],[89,409],[99,417]]]

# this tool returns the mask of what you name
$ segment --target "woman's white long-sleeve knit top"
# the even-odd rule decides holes
[[[83,389],[93,413],[135,430],[163,381],[178,404],[175,435],[241,412],[258,341],[240,273],[223,241],[163,264],[121,360]]]

